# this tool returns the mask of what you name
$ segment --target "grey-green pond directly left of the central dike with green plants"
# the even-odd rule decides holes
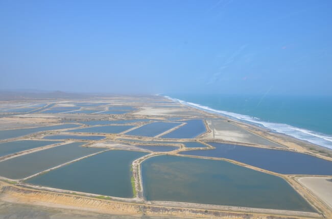
[[[132,198],[131,163],[146,154],[138,151],[106,151],[36,176],[27,182],[84,193]]]

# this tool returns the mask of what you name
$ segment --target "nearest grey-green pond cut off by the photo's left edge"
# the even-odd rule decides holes
[[[105,149],[80,147],[85,143],[75,142],[0,162],[0,175],[21,179]]]

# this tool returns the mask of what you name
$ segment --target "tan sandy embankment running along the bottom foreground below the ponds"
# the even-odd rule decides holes
[[[29,188],[20,188],[8,183],[0,183],[2,193],[0,199],[6,202],[34,204],[45,207],[74,209],[81,211],[92,211],[105,214],[120,215],[159,215],[180,217],[205,217],[205,218],[321,218],[316,213],[277,211],[277,213],[266,212],[266,209],[244,209],[232,207],[227,209],[204,209],[204,205],[191,205],[186,203],[139,204],[120,201],[103,200],[76,195],[58,194],[49,191],[39,191]],[[165,205],[165,206],[164,206]],[[176,206],[167,206],[176,205]],[[204,206],[207,207],[207,206]],[[249,212],[248,212],[249,211]],[[251,212],[253,211],[253,212]],[[271,211],[271,210],[268,210]]]

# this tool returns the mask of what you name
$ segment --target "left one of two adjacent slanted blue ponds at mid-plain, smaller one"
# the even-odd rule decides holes
[[[140,136],[149,136],[153,137],[162,132],[165,132],[171,128],[174,128],[181,123],[172,123],[172,122],[153,122],[147,125],[136,128],[132,131],[127,132],[128,135],[140,135]]]

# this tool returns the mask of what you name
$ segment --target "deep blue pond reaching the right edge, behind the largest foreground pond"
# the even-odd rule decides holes
[[[208,143],[213,150],[185,151],[180,154],[223,157],[281,174],[332,175],[332,161],[284,150]]]

